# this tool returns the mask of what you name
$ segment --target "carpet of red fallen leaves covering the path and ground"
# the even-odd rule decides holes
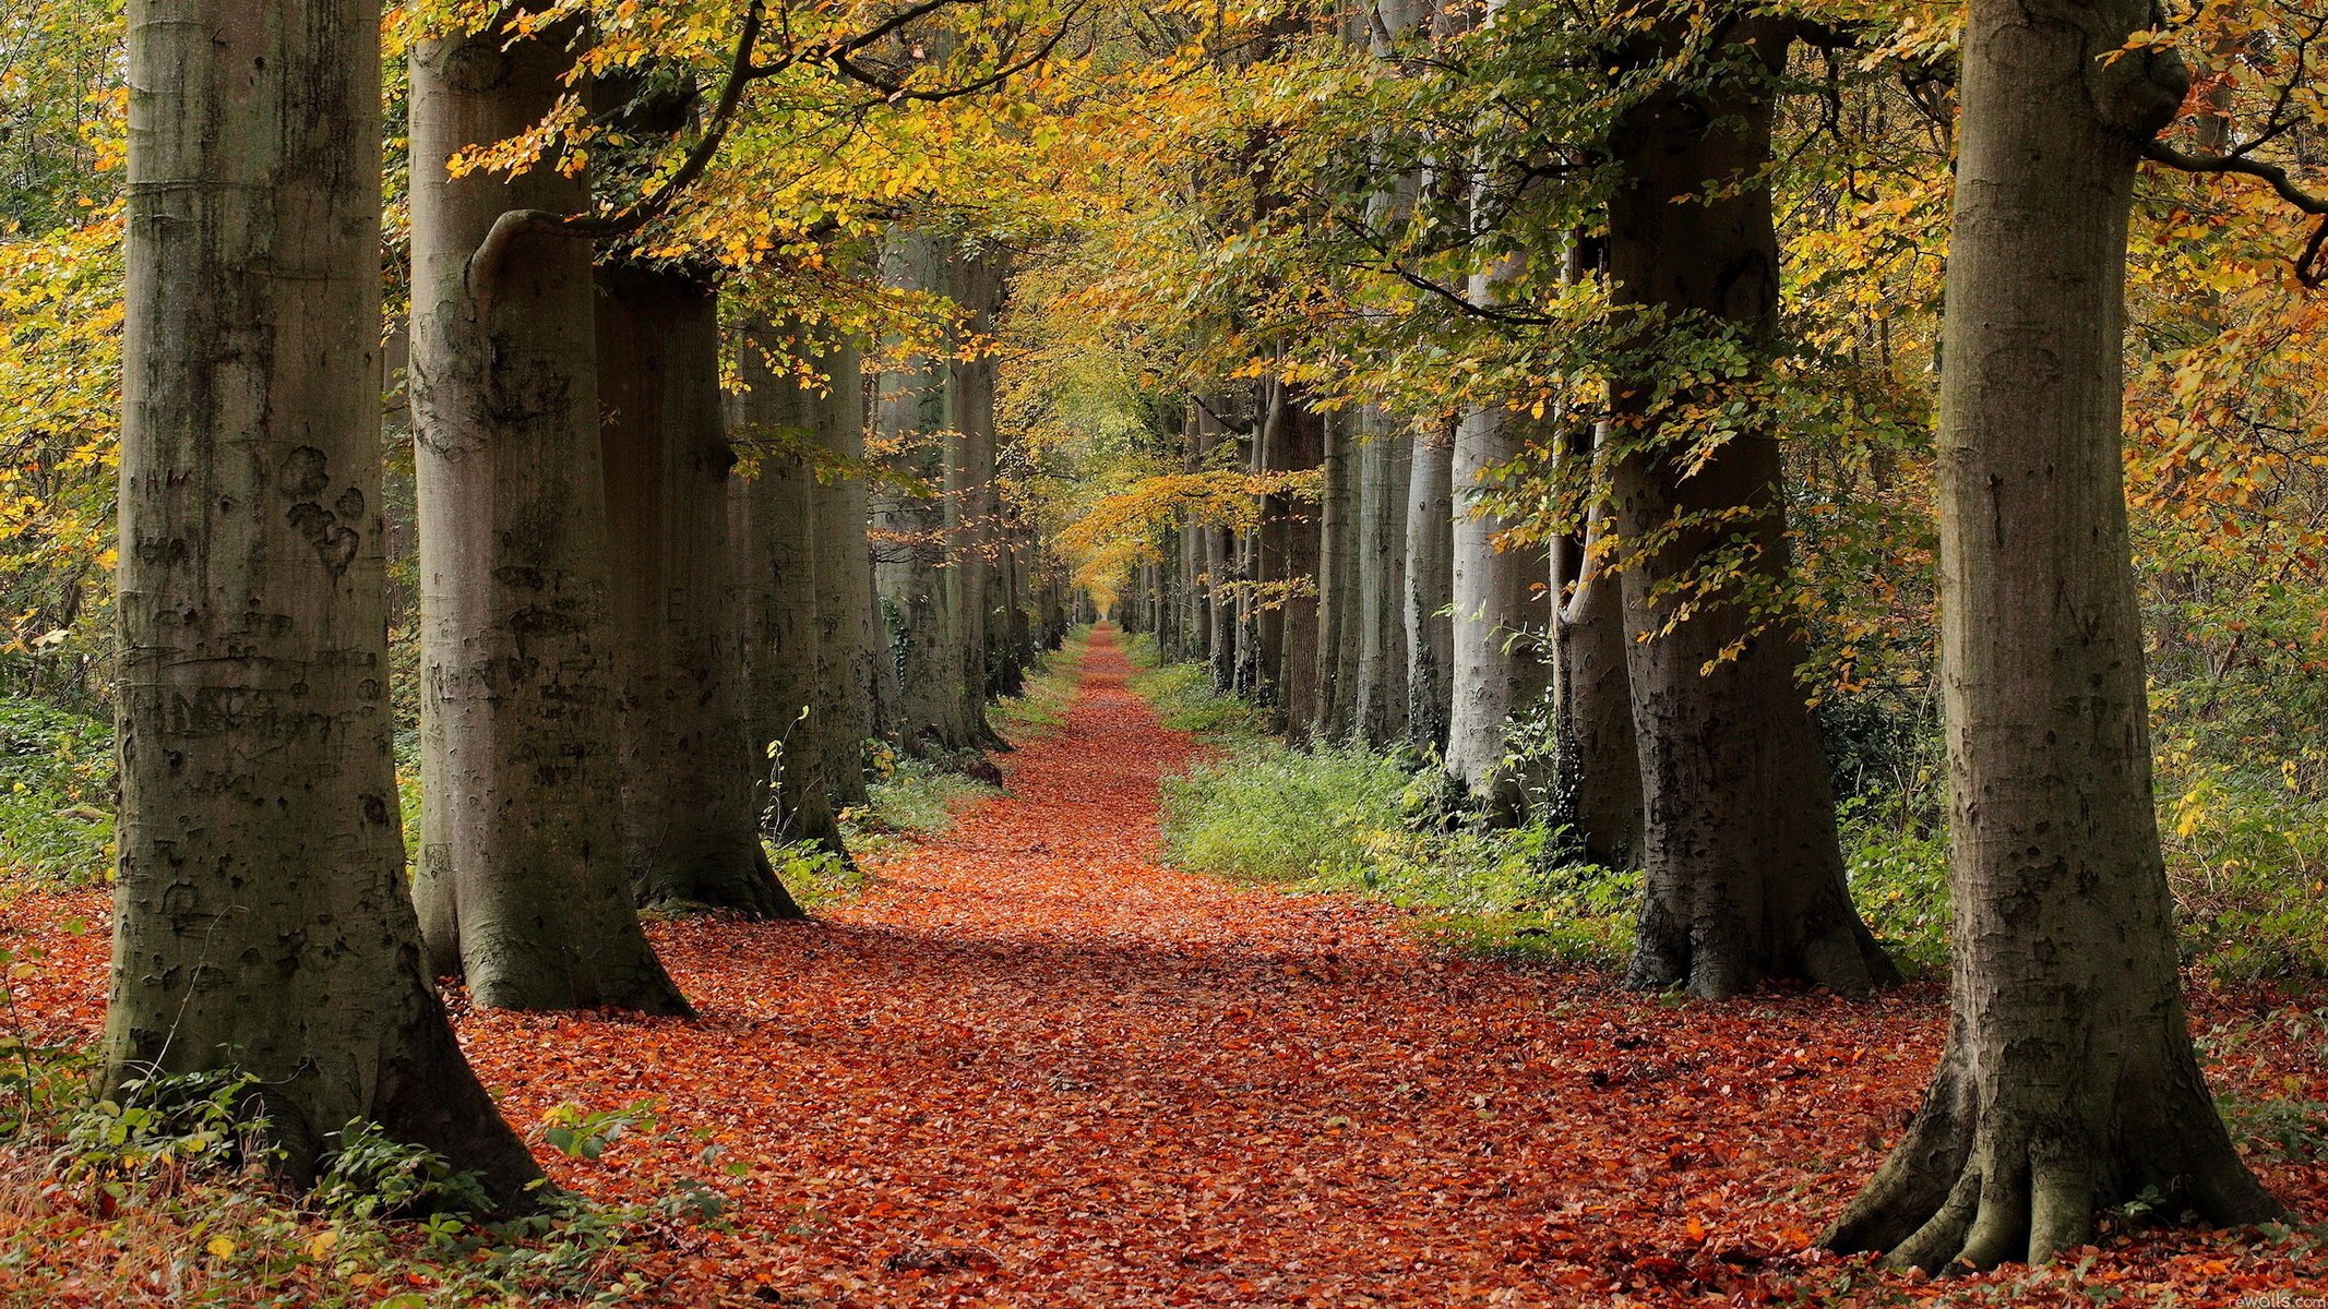
[[[1811,1251],[1916,1104],[1935,986],[1667,1002],[1434,951],[1364,900],[1173,872],[1157,779],[1192,744],[1108,630],[1083,667],[1066,723],[1003,758],[1006,797],[826,921],[656,925],[698,1021],[461,1018],[519,1125],[661,1104],[601,1160],[549,1156],[561,1183],[731,1200],[731,1230],[643,1256],[654,1304],[2328,1307],[2316,1251],[2212,1232],[1944,1279]],[[21,1002],[95,1032],[102,932],[40,935]],[[2316,1042],[2209,1072],[2328,1100]],[[2328,1214],[2328,1167],[2258,1167]]]

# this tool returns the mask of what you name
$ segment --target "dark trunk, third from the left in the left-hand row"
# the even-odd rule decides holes
[[[759,844],[733,602],[719,298],[677,272],[598,272],[598,405],[619,651],[622,842],[659,909],[796,918]]]

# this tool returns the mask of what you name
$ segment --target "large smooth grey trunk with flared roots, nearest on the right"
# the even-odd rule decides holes
[[[1949,1046],[1827,1232],[1893,1265],[2049,1260],[2146,1190],[2284,1209],[2191,1049],[2151,800],[2121,470],[2125,223],[2172,53],[2125,0],[1974,0],[1939,393]]]

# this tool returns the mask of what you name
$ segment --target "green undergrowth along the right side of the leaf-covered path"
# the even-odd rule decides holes
[[[1299,890],[1360,890],[1422,909],[1448,944],[1618,965],[1639,874],[1574,858],[1546,823],[1446,821],[1439,770],[1413,751],[1292,749],[1262,709],[1215,695],[1208,670],[1127,642],[1134,691],[1211,758],[1164,784],[1166,856],[1192,872]],[[1860,751],[1865,756],[1869,751]],[[1853,902],[1909,974],[1949,965],[1949,842],[1937,763],[1895,749],[1897,784],[1841,786]],[[1858,758],[1858,756],[1853,756]],[[1860,760],[1865,763],[1865,760]],[[2328,814],[2298,793],[2160,751],[2160,828],[2181,951],[2223,983],[2328,977]],[[1846,779],[1848,781],[1848,779]]]

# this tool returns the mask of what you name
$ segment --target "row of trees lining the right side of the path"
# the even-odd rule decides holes
[[[2149,21],[1974,0],[1960,49],[1937,428],[1956,1023],[1916,1125],[1827,1235],[1909,1265],[2044,1260],[2151,1190],[2221,1223],[2281,1214],[2179,1004],[2123,284],[2144,158],[2319,202],[2251,158],[2293,128],[2230,144],[2223,81],[2212,153],[2158,144],[2191,77]],[[1301,253],[1248,263],[1241,321],[1213,330],[1287,305],[1341,319],[1259,381],[1190,395],[1162,430],[1180,467],[1099,509],[1145,542],[1127,618],[1215,688],[1294,739],[1413,746],[1478,816],[1534,802],[1590,860],[1639,867],[1637,986],[1897,979],[1851,907],[1797,679],[1781,437],[1807,405],[1786,393],[1772,184],[1807,44],[1932,77],[1930,51],[1872,35],[1744,5],[1383,5],[1320,35],[1383,63],[1376,86],[1429,93],[1271,123],[1236,160],[1259,181],[1222,239]],[[1301,135],[1329,144],[1283,144]],[[1460,339],[1450,319],[1490,337],[1469,358],[1485,386],[1401,372],[1413,323]],[[1257,498],[1220,495],[1238,484]]]

